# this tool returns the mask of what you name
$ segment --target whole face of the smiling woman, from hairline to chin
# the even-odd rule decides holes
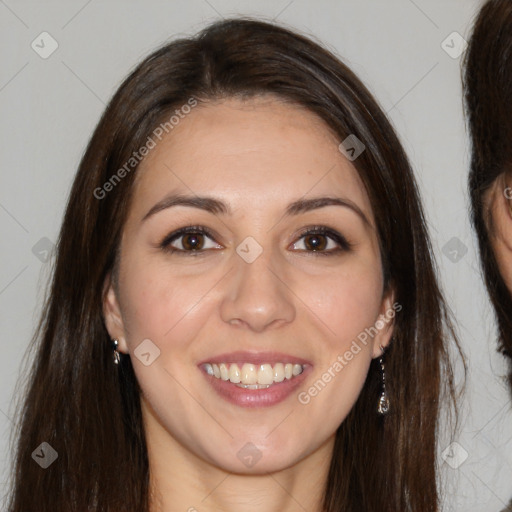
[[[393,304],[340,142],[275,98],[228,99],[140,165],[104,311],[159,449],[238,473],[332,449]]]

